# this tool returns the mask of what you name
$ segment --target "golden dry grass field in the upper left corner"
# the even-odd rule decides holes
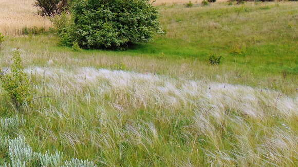
[[[26,28],[47,30],[50,21],[36,14],[33,3],[34,0],[1,0],[0,32],[15,36],[26,33]]]

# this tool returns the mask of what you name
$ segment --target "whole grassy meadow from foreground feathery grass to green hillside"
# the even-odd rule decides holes
[[[164,34],[126,51],[0,21],[0,67],[20,48],[36,89],[20,112],[0,88],[0,166],[296,166],[298,3],[159,8]]]

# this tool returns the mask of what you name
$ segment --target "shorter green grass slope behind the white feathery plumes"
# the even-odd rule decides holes
[[[268,9],[263,9],[263,7]],[[58,47],[57,36],[6,37],[0,65],[20,47],[25,66],[96,67],[248,85],[297,94],[297,3],[161,7],[165,34],[127,51]],[[238,14],[238,12],[240,12]],[[209,56],[222,56],[210,66]]]

